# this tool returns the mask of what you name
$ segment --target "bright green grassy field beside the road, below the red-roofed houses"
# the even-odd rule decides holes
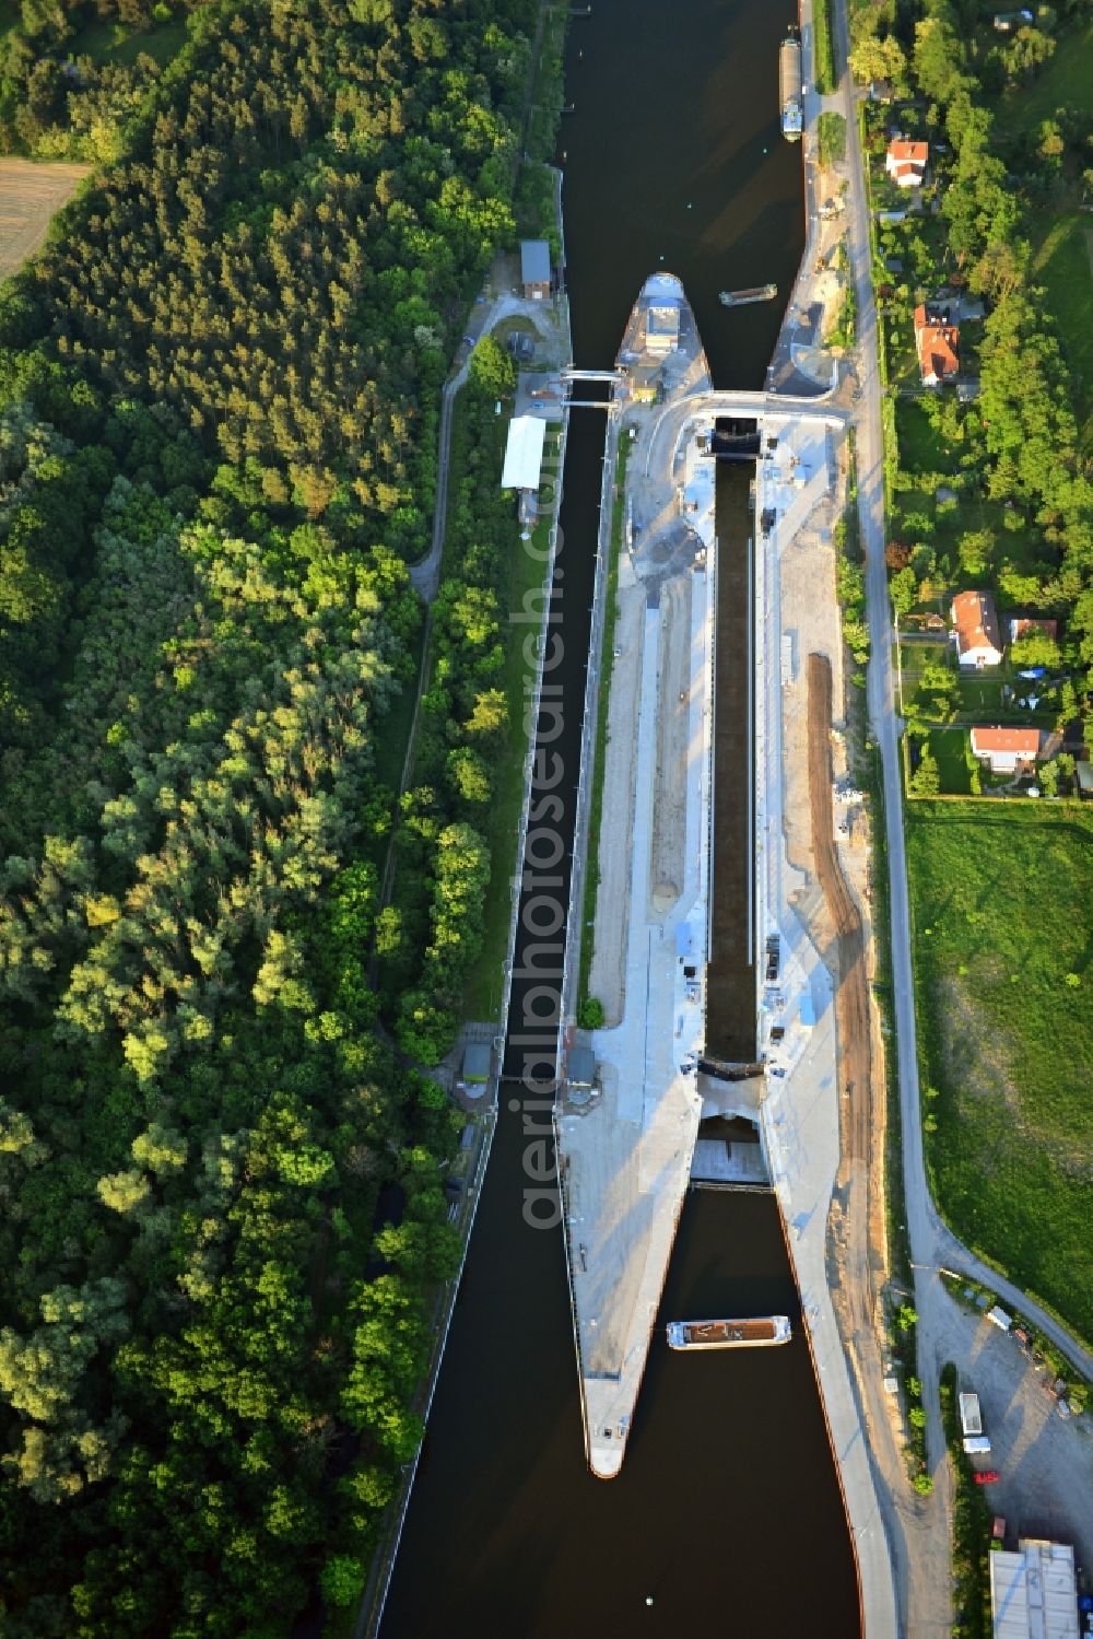
[[[1093,815],[916,801],[906,839],[937,1203],[1090,1342]]]

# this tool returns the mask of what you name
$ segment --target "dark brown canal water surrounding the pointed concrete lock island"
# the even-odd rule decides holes
[[[800,261],[800,149],[782,139],[777,107],[793,20],[767,0],[595,0],[574,18],[565,90],[577,111],[562,120],[559,161],[578,365],[613,364],[637,290],[664,267],[685,284],[714,384],[762,385],[783,302],[732,311],[718,292],[777,280],[785,295]],[[601,456],[603,415],[575,411],[556,582],[564,729],[552,742],[567,847]],[[746,508],[721,492],[721,554],[744,552]],[[739,788],[742,801],[746,770]],[[721,813],[739,823],[729,801],[719,782]],[[565,862],[559,875],[565,903]],[[511,1075],[529,983],[513,983]],[[850,1546],[772,1198],[688,1196],[626,1464],[603,1483],[585,1467],[560,1229],[524,1216],[526,1124],[542,1119],[533,1103],[515,1082],[501,1087],[382,1639],[624,1639],[688,1621],[741,1639],[850,1639]],[[708,1355],[664,1342],[669,1318],[749,1313],[788,1313],[793,1342]]]

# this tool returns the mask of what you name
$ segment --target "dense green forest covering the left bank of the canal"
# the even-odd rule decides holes
[[[465,521],[434,782],[401,815],[410,944],[379,903],[380,770],[439,384],[513,234],[534,11],[213,0],[102,113],[108,164],[0,293],[13,1636],[275,1634],[316,1588],[349,1605],[420,1439],[460,1118],[388,1028],[423,1047],[410,993],[416,1057],[451,1042],[488,872],[497,565]],[[88,128],[88,15],[25,0],[8,148]]]

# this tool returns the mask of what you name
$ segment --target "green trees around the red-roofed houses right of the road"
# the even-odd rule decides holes
[[[1019,100],[1052,59],[1057,34],[1086,15],[1082,0],[1042,5],[1036,20],[1027,13],[1013,34],[1000,34],[972,0],[914,8],[883,0],[855,10],[850,51],[860,79],[891,80],[903,102],[887,123],[929,138],[937,175],[942,252],[931,251],[926,228],[911,228],[900,243],[905,270],[909,249],[911,285],[893,290],[885,264],[877,269],[890,344],[900,329],[909,334],[913,302],[939,287],[985,303],[978,398],[944,393],[923,403],[937,443],[952,451],[947,467],[901,472],[895,439],[888,444],[890,482],[903,492],[895,520],[901,539],[890,549],[893,593],[909,608],[931,579],[986,582],[1003,610],[1062,616],[1067,659],[1078,669],[1078,688],[1067,685],[1070,716],[1088,708],[1093,667],[1093,487],[1078,420],[1085,384],[1068,367],[1034,277],[1031,238],[1045,202],[1093,188],[1093,113],[1088,102],[1062,107],[1029,133],[1011,128],[998,108],[1003,97],[1006,107]],[[1065,34],[1059,49],[1067,49]],[[870,143],[883,152],[885,121],[877,116],[872,126]],[[919,506],[941,485],[955,485],[949,505],[957,520],[983,520],[965,528],[946,562]]]

